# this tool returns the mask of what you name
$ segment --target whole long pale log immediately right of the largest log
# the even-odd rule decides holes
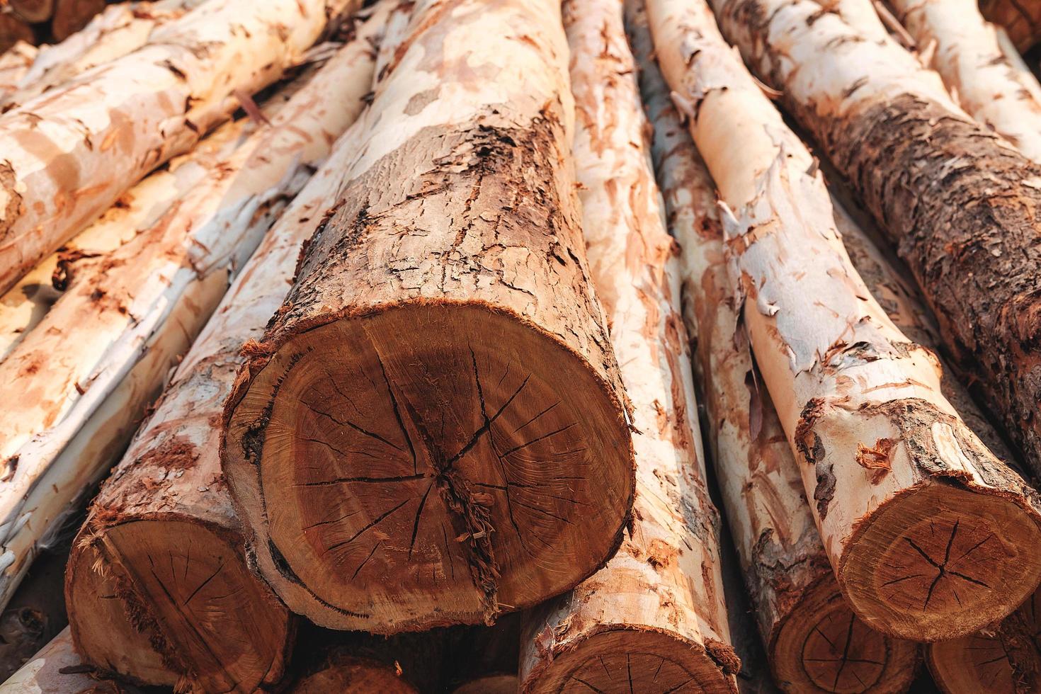
[[[582,228],[633,405],[636,496],[618,552],[526,617],[520,690],[736,692],[675,242],[649,159],[623,0],[569,0]],[[619,685],[618,683],[621,683]]]

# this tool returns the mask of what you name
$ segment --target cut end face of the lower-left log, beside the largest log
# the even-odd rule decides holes
[[[69,559],[66,594],[86,661],[144,684],[169,686],[184,674],[206,691],[252,692],[279,682],[290,616],[247,568],[240,539],[170,519],[81,532],[80,539],[87,541]]]

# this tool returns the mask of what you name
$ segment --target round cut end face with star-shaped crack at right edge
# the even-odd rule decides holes
[[[931,480],[855,529],[838,577],[872,628],[931,642],[1019,607],[1041,581],[1038,546],[1041,529],[1015,500]]]

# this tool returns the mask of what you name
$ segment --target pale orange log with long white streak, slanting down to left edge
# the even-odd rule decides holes
[[[337,93],[329,79],[295,95],[146,233],[80,260],[82,281],[0,363],[27,393],[23,407],[0,413],[9,477],[0,490],[0,597],[71,495],[123,449],[229,276],[346,127],[346,113],[316,107]]]

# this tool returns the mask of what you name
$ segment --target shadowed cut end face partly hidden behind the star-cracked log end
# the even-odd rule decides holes
[[[793,603],[769,646],[773,678],[792,692],[903,692],[918,646],[868,627],[831,573]]]

